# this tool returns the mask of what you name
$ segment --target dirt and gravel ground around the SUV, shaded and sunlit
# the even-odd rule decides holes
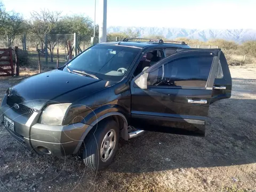
[[[0,125],[0,191],[256,191],[256,68],[230,71],[232,97],[211,105],[204,138],[147,132],[119,143],[106,171],[30,153]],[[0,79],[0,98],[15,81]]]

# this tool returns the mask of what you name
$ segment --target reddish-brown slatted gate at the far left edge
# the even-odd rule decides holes
[[[0,77],[13,76],[12,49],[0,49]]]

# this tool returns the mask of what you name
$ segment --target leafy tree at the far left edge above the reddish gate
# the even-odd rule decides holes
[[[23,35],[27,29],[26,22],[19,13],[7,12],[0,2],[0,34],[7,40],[7,46],[13,44],[17,35]]]

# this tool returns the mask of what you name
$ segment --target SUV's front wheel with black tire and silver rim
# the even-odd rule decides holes
[[[110,139],[111,133],[114,134],[114,139]],[[106,142],[103,142],[104,139]],[[85,147],[82,154],[84,164],[93,170],[105,169],[114,160],[118,148],[118,141],[119,127],[117,123],[114,120],[99,122],[98,126],[95,125],[92,133],[87,135],[84,140]],[[102,152],[103,155],[101,155],[101,151],[104,151]]]

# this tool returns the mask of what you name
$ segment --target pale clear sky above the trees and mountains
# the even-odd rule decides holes
[[[0,0],[7,11],[29,18],[49,9],[94,19],[94,0]],[[96,0],[96,23],[100,2]],[[108,0],[107,26],[187,29],[256,29],[256,0]]]

